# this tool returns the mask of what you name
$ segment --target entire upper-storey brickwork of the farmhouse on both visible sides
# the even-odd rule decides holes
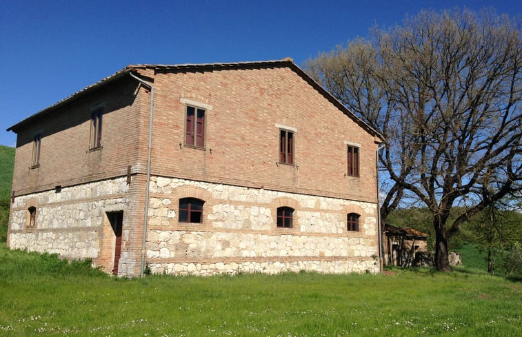
[[[292,69],[138,71],[145,81],[154,80],[152,174],[377,200],[374,136]],[[212,106],[205,116],[205,150],[184,145],[180,99]],[[103,148],[90,152],[90,112],[100,102],[106,112]],[[145,173],[149,102],[150,92],[124,76],[17,130],[13,190],[23,194],[124,175],[127,165]],[[294,165],[278,164],[276,125],[297,129]],[[43,134],[40,167],[30,169],[37,132]],[[361,145],[359,178],[345,175],[346,142]]]

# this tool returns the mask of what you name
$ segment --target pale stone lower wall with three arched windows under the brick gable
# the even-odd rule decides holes
[[[205,201],[202,223],[179,223],[179,198]],[[278,228],[277,207],[294,208]],[[347,230],[356,212],[359,232]],[[152,176],[147,263],[154,274],[379,272],[377,204]]]

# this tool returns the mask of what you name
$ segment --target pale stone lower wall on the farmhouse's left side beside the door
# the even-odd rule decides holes
[[[94,265],[110,265],[114,234],[106,212],[125,214],[130,203],[128,189],[126,178],[114,178],[63,187],[60,192],[17,196],[11,205],[9,247],[70,259],[92,258]],[[31,206],[36,209],[34,226],[29,221]],[[126,219],[123,221],[125,241],[130,232]]]

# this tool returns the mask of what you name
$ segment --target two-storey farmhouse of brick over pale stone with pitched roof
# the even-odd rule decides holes
[[[379,272],[379,132],[292,59],[130,65],[17,133],[11,249],[119,276]]]

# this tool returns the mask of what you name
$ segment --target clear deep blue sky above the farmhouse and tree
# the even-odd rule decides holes
[[[14,146],[5,131],[14,123],[128,64],[292,57],[301,65],[375,23],[463,6],[522,13],[521,0],[1,0],[0,145]]]

